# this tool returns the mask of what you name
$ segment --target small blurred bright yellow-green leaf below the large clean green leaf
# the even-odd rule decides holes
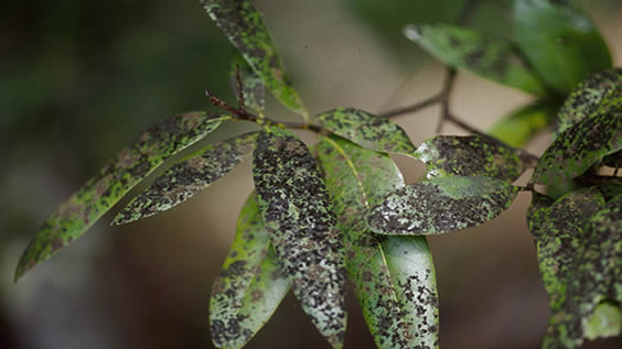
[[[521,107],[495,122],[487,134],[503,140],[510,146],[523,148],[555,120],[557,109],[557,106],[548,102]]]

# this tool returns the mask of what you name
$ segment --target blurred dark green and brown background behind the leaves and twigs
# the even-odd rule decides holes
[[[511,32],[508,1],[480,1],[470,25]],[[583,1],[622,52],[622,7]],[[401,26],[454,21],[462,1],[256,1],[311,112],[369,111],[433,95],[441,66],[401,36]],[[154,218],[85,237],[18,284],[22,250],[57,205],[151,123],[208,107],[210,88],[233,100],[233,48],[199,1],[0,3],[0,348],[211,348],[211,283],[251,189],[248,163],[189,203]],[[529,100],[463,74],[454,110],[485,129]],[[268,114],[293,118],[269,99]],[[432,108],[397,121],[417,144],[433,134]],[[223,127],[210,140],[240,132]],[[459,133],[446,128],[447,133]],[[313,142],[310,134],[301,134]],[[545,134],[530,150],[541,152]],[[422,166],[396,157],[407,182]],[[478,229],[429,239],[441,301],[441,347],[537,348],[547,298],[524,221],[528,194]],[[346,348],[373,348],[350,297]],[[620,348],[620,339],[590,348]],[[249,348],[326,348],[288,296]],[[588,346],[587,346],[588,347]]]

